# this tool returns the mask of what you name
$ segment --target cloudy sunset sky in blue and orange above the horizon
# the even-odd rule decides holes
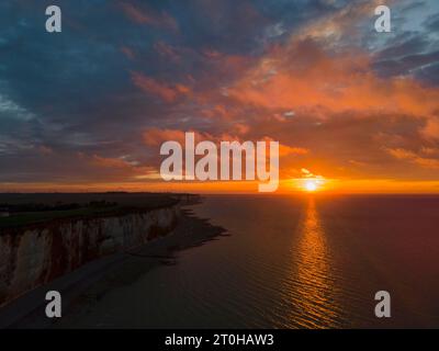
[[[256,191],[160,180],[189,131],[279,140],[279,192],[439,193],[439,2],[0,2],[0,191]]]

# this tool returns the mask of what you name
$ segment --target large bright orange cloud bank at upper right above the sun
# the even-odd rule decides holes
[[[325,52],[312,39],[270,53],[227,89],[240,103],[266,109],[378,112],[429,118],[437,135],[439,90],[412,78],[378,77],[367,54]]]

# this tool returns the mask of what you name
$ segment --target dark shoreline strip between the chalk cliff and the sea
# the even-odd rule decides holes
[[[210,224],[210,219],[196,217],[191,208],[184,207],[179,223],[169,235],[87,263],[4,306],[0,310],[0,328],[75,327],[75,319],[112,288],[130,284],[154,268],[177,264],[177,254],[182,250],[228,236],[224,228]],[[44,297],[49,290],[61,293],[60,319],[45,316]]]

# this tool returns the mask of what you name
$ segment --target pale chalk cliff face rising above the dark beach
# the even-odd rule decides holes
[[[176,226],[179,206],[117,217],[60,219],[0,235],[0,306],[105,254],[135,248]]]

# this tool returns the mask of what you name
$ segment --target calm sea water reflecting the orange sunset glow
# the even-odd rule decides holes
[[[85,327],[439,327],[439,197],[207,196],[229,237],[108,294]],[[392,317],[374,317],[374,294]]]

